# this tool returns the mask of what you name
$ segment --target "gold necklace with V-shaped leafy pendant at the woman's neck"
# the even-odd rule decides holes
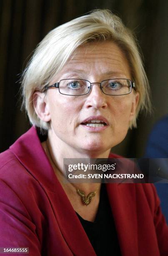
[[[52,158],[52,156],[51,156],[51,154],[50,154],[50,150],[49,150],[47,141],[46,141],[46,147],[47,147],[48,154],[50,155],[50,159],[51,159],[51,161],[53,162],[54,166],[56,167],[55,162],[54,162],[54,160],[53,160],[53,158]],[[44,150],[45,150],[45,153],[47,154],[45,145],[44,145]],[[61,172],[61,174],[62,174],[62,172]],[[63,174],[62,174],[62,175],[63,175]],[[63,175],[63,176],[64,176],[64,175]],[[73,185],[73,183],[70,183],[70,184]],[[75,186],[73,185],[73,187],[75,187]],[[86,206],[88,206],[88,205],[90,205],[90,203],[92,202],[92,198],[95,197],[95,195],[96,195],[96,190],[97,190],[98,188],[96,188],[95,191],[90,192],[87,196],[86,196],[85,192],[83,192],[81,189],[79,189],[79,188],[77,188],[77,187],[75,187],[75,189],[76,189],[76,192],[78,193],[78,195],[80,195],[83,204],[85,204]]]

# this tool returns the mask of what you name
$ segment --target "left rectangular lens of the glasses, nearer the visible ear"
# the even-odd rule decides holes
[[[60,81],[60,93],[65,95],[84,95],[88,93],[90,82],[83,79],[63,79]]]

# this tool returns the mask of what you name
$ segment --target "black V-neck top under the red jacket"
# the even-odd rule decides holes
[[[77,215],[98,256],[121,256],[105,184],[101,184],[100,202],[95,221],[84,220],[78,213]]]

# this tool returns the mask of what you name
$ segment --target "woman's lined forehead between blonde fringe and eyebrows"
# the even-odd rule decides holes
[[[92,74],[130,79],[130,67],[125,54],[113,42],[88,43],[78,47],[67,61],[60,76],[83,74],[87,78]],[[103,77],[103,79],[108,77]]]

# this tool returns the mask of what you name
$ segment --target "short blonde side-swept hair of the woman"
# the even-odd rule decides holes
[[[50,126],[38,118],[33,107],[33,93],[46,84],[66,64],[73,52],[88,42],[113,41],[124,52],[130,64],[131,79],[140,98],[130,128],[136,127],[141,109],[150,110],[149,84],[133,33],[110,10],[93,10],[50,31],[38,44],[22,76],[23,106],[30,123],[47,130]]]

